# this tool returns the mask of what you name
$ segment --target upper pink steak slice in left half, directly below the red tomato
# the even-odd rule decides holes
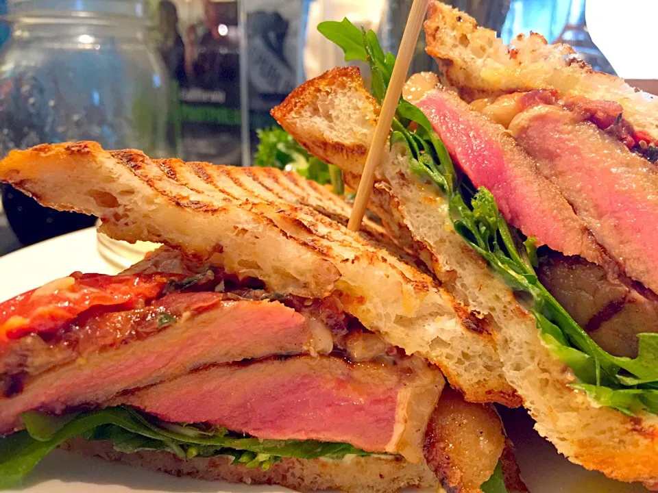
[[[0,434],[18,426],[28,409],[62,412],[102,403],[211,363],[332,350],[326,327],[309,324],[282,303],[226,301],[208,292],[171,294],[143,309],[102,314],[69,327],[55,346],[36,335],[16,343],[23,341],[17,353],[4,355],[13,364],[3,365]],[[58,366],[50,367],[51,350]]]

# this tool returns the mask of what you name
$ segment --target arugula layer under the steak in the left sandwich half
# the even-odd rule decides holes
[[[267,468],[281,457],[342,459],[348,454],[369,455],[345,443],[258,440],[223,428],[155,422],[125,406],[64,418],[29,412],[22,414],[21,418],[25,431],[0,439],[0,488],[19,483],[43,457],[78,435],[88,440],[110,440],[121,452],[163,450],[182,459],[196,455],[228,455],[247,467]]]

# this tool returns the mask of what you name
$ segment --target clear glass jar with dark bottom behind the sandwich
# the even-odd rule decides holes
[[[0,54],[0,157],[41,143],[96,140],[106,149],[171,155],[167,76],[141,0],[9,0]],[[23,244],[93,225],[11,187],[3,206]]]

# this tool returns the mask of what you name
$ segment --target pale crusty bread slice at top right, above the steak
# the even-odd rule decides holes
[[[555,89],[561,97],[616,101],[636,130],[658,138],[658,99],[624,79],[596,72],[574,58],[569,45],[548,45],[541,34],[520,34],[510,45],[496,31],[438,0],[430,2],[425,23],[427,52],[448,84],[472,101],[507,92]]]

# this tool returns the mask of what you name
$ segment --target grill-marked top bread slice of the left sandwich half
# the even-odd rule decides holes
[[[489,321],[394,255],[376,225],[348,231],[349,206],[295,173],[151,160],[79,142],[12,151],[0,162],[0,179],[44,205],[99,216],[112,238],[209,257],[276,292],[337,292],[346,312],[437,364],[466,399],[520,405]]]

